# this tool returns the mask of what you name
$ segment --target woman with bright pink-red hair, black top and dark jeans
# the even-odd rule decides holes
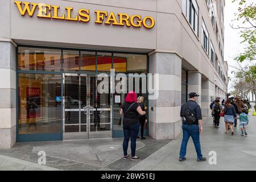
[[[129,140],[131,138],[131,160],[139,159],[135,156],[136,140],[139,133],[139,114],[146,114],[137,103],[137,95],[134,91],[127,93],[125,102],[123,102],[120,114],[123,114],[123,159],[129,158],[127,154]]]

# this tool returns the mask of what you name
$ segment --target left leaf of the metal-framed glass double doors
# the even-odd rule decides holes
[[[63,83],[63,139],[86,139],[86,75],[64,73]]]

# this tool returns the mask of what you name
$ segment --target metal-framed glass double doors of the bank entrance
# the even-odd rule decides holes
[[[110,93],[98,93],[97,76],[64,74],[63,82],[63,138],[111,138]]]

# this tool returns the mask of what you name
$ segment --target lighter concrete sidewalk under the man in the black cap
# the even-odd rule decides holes
[[[220,129],[214,128],[212,118],[204,119],[204,130],[200,135],[201,149],[207,159],[210,158],[210,151],[216,151],[217,164],[210,165],[208,160],[197,162],[192,139],[189,139],[187,146],[187,160],[179,162],[181,134],[130,170],[256,170],[256,116],[249,115],[247,137],[240,136],[239,124],[232,136],[230,133],[225,134],[224,118],[221,118]]]

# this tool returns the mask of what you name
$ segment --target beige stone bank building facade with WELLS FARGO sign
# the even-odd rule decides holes
[[[125,92],[97,89],[102,81],[106,91],[118,80],[127,87],[138,75],[146,134],[176,138],[189,92],[200,94],[204,116],[216,96],[226,98],[224,6],[224,0],[1,1],[0,147],[122,137]],[[123,77],[112,80],[111,73]],[[143,92],[148,73],[159,78],[154,100]]]

